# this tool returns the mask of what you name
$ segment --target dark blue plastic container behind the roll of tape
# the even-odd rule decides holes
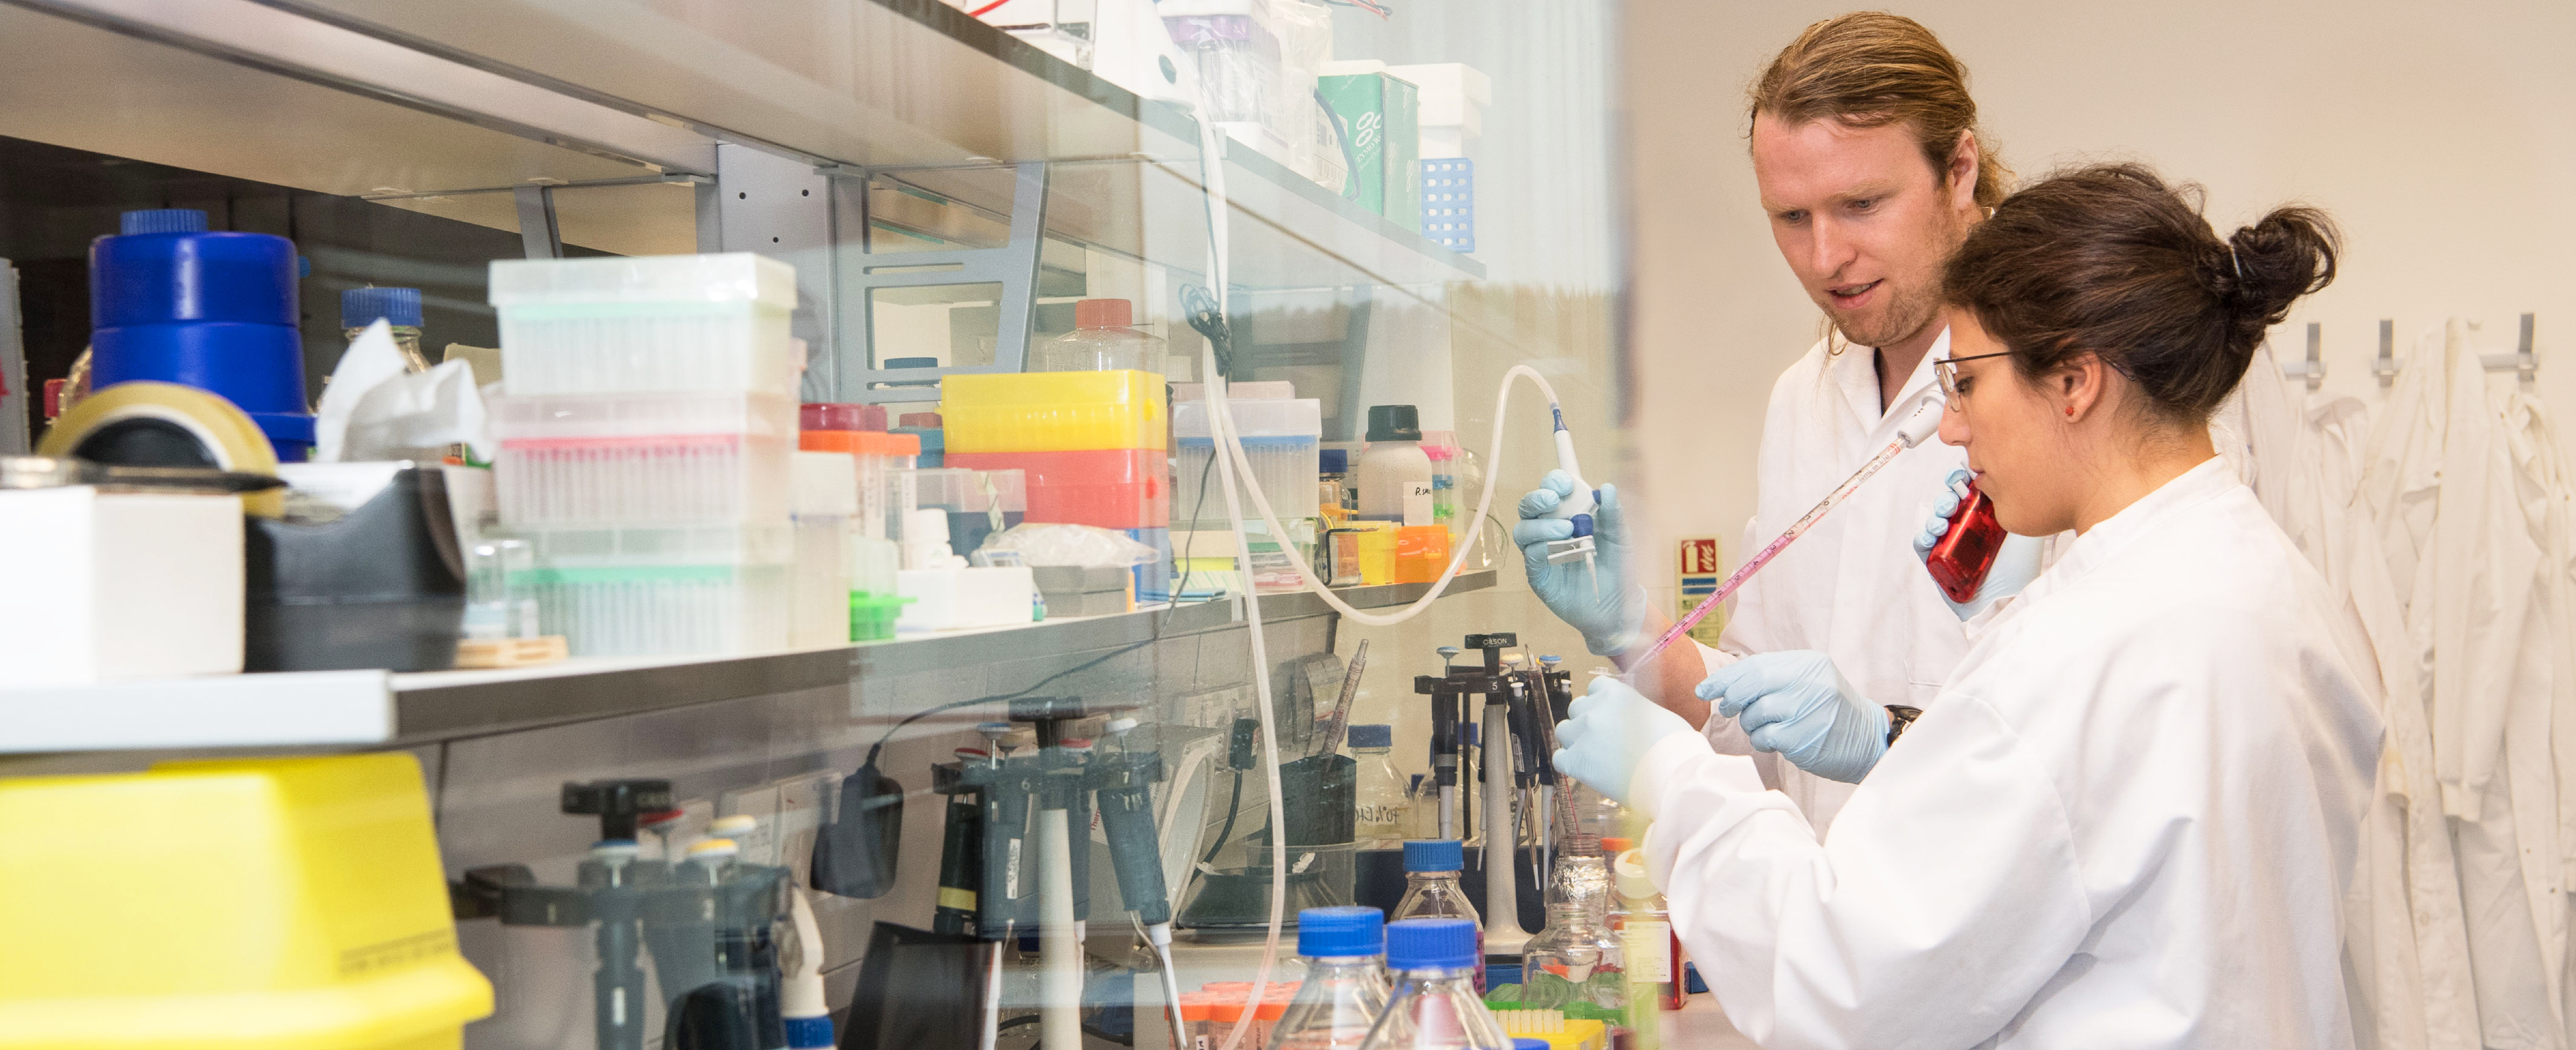
[[[191,208],[129,211],[90,242],[90,383],[162,381],[216,394],[281,461],[312,450],[296,244],[204,232]]]

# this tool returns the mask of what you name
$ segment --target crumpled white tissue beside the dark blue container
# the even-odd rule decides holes
[[[322,389],[314,463],[435,463],[448,445],[469,445],[479,461],[500,453],[474,371],[464,360],[425,373],[404,371],[394,329],[376,319],[348,345]]]

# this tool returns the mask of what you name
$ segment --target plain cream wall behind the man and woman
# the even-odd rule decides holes
[[[1638,479],[1669,579],[1674,535],[1752,515],[1772,376],[1814,342],[1816,309],[1762,224],[1744,157],[1744,88],[1842,3],[1631,0],[1628,116]],[[2210,190],[2221,232],[2300,198],[2349,250],[2331,288],[2272,335],[2298,355],[2324,322],[2326,386],[2378,399],[2378,319],[2398,353],[2442,317],[2486,317],[2512,350],[2540,314],[2540,391],[2576,412],[2576,5],[2470,0],[1901,3],[1971,69],[1986,129],[2022,175],[2143,160]]]

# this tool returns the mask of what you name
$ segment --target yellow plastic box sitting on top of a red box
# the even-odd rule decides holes
[[[940,378],[948,453],[1170,448],[1162,376],[1144,371]]]

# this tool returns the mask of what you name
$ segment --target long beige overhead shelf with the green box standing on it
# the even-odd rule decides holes
[[[1054,162],[1051,237],[1198,270],[1198,124],[938,0],[562,5],[270,0],[708,139],[886,175],[1007,214],[1018,162]],[[1484,265],[1226,142],[1234,281],[1419,286]],[[495,206],[497,208],[497,206]],[[497,216],[500,211],[495,211]]]

